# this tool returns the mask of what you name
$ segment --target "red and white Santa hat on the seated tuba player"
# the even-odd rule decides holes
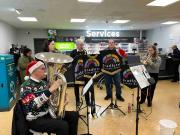
[[[44,65],[43,62],[41,61],[31,61],[27,68],[26,68],[26,76],[24,77],[25,80],[29,79],[30,74],[36,70],[37,68],[39,68],[41,65]]]

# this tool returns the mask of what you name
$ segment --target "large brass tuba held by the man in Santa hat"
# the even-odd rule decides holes
[[[63,118],[67,88],[67,81],[64,76],[64,73],[67,71],[65,64],[72,62],[73,59],[68,55],[51,52],[38,53],[35,57],[42,60],[46,65],[49,86],[56,79],[62,80],[62,85],[51,95],[49,99],[49,113],[53,118],[57,118],[57,116]]]

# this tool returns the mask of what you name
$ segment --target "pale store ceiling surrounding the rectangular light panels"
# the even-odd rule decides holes
[[[180,2],[168,7],[146,7],[152,0],[104,0],[79,3],[77,0],[0,0],[0,20],[17,28],[45,29],[151,29],[162,22],[180,21]],[[22,9],[21,15],[11,9]],[[21,22],[18,16],[36,17],[38,22]],[[71,18],[86,18],[85,23],[70,23]],[[129,19],[127,24],[113,24]]]

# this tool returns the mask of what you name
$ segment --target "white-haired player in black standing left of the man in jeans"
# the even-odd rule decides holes
[[[84,41],[82,39],[77,39],[76,40],[76,49],[72,50],[72,52],[70,54],[70,56],[74,59],[73,63],[72,63],[73,66],[76,65],[76,61],[79,58],[79,56],[83,56],[83,55],[86,55],[86,54],[87,54],[87,52],[84,49]],[[74,78],[74,82],[75,82],[75,78]],[[76,106],[80,105],[79,87],[80,87],[80,84],[74,83],[74,93],[75,93],[75,97],[76,97]],[[89,100],[89,99],[87,99],[87,96],[85,96],[85,97],[86,97],[86,100]]]

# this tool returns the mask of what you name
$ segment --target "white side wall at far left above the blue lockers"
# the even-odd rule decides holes
[[[12,44],[17,44],[16,28],[0,21],[0,53],[9,53]]]

